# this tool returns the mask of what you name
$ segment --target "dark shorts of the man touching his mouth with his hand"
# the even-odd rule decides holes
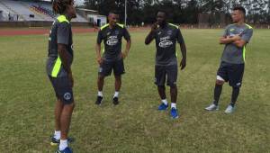
[[[156,85],[169,85],[170,87],[176,86],[178,67],[177,65],[171,66],[156,66],[155,67],[155,84]]]

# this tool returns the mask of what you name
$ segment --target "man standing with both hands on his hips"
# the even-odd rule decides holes
[[[103,84],[105,76],[110,76],[113,69],[115,78],[115,93],[112,97],[112,103],[119,103],[119,92],[121,89],[121,75],[125,73],[123,59],[126,58],[130,51],[130,33],[124,25],[117,23],[119,14],[110,12],[108,15],[108,24],[105,24],[98,31],[96,40],[96,56],[99,64],[97,78],[98,93],[95,104],[100,105],[103,101]],[[126,49],[121,51],[121,38],[127,40]],[[103,41],[103,56],[101,55],[101,42]]]

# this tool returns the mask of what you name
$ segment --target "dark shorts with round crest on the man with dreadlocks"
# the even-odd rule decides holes
[[[67,78],[64,77],[51,77],[49,80],[54,88],[57,98],[64,104],[69,104],[74,102],[72,86]]]

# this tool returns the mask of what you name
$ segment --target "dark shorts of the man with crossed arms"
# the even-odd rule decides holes
[[[230,86],[240,87],[242,85],[244,69],[245,64],[230,64],[222,61],[217,73],[217,79],[229,82]]]

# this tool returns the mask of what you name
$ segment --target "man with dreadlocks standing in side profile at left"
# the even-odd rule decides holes
[[[71,153],[67,146],[67,132],[75,107],[73,98],[73,60],[72,31],[70,21],[76,18],[74,0],[54,0],[52,9],[58,18],[52,24],[49,33],[49,54],[47,74],[57,96],[55,105],[55,132],[51,145],[59,144],[57,153]],[[69,139],[68,139],[69,140]]]

